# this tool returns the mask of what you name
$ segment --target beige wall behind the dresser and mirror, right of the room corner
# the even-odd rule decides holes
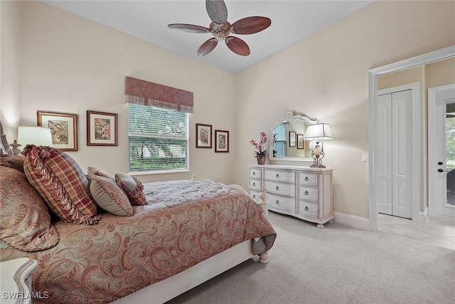
[[[333,209],[368,218],[367,71],[455,44],[455,1],[377,1],[237,74],[236,182],[247,187],[249,140],[290,110],[331,125]],[[255,125],[250,125],[250,118]]]

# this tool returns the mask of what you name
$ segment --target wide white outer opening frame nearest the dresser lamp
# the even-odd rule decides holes
[[[378,76],[388,73],[405,70],[419,65],[441,61],[447,58],[455,57],[455,46],[442,48],[438,51],[433,51],[413,58],[384,65],[379,68],[368,70],[368,154],[370,154],[369,163],[369,224],[370,230],[378,230],[378,208],[375,201],[375,157],[378,154],[378,146],[376,143],[376,134],[378,130],[378,122],[376,120],[376,103],[378,102]]]

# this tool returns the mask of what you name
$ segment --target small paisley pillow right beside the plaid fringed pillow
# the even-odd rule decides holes
[[[127,194],[112,179],[97,175],[87,175],[87,178],[90,194],[100,208],[118,216],[133,215]]]

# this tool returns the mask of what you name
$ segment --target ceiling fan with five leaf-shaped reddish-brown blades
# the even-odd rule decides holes
[[[207,55],[213,51],[215,46],[217,46],[218,41],[223,40],[232,52],[240,56],[248,56],[250,55],[250,47],[248,47],[247,43],[235,36],[229,36],[230,33],[238,35],[258,33],[259,31],[268,28],[272,23],[267,17],[251,16],[242,18],[231,24],[228,22],[228,9],[223,0],[206,0],[205,9],[207,9],[207,14],[212,20],[212,23],[210,23],[208,28],[186,23],[168,24],[168,28],[178,31],[185,31],[188,33],[212,33],[213,36],[215,36],[202,43],[198,48],[198,56]]]

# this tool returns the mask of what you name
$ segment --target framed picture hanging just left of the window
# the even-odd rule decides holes
[[[87,146],[118,146],[117,114],[87,110]]]

